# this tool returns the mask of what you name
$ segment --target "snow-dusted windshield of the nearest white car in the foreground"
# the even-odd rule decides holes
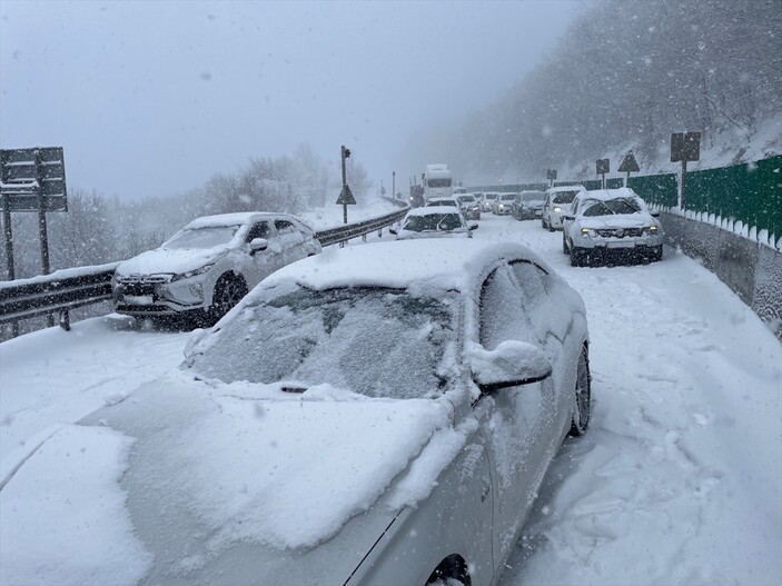
[[[455,356],[456,301],[456,294],[297,288],[246,307],[186,367],[225,383],[287,380],[369,397],[432,398],[453,379],[444,362]]]

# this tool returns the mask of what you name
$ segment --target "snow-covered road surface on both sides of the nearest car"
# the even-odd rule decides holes
[[[387,237],[386,237],[387,238]],[[561,232],[485,215],[584,297],[595,407],[502,586],[782,583],[782,347],[697,262],[571,268]],[[178,364],[187,332],[117,317],[0,345],[0,483],[60,425]]]

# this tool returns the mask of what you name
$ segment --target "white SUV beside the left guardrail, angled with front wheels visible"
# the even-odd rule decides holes
[[[266,276],[319,251],[315,232],[287,213],[197,218],[159,248],[117,267],[113,309],[214,322]]]

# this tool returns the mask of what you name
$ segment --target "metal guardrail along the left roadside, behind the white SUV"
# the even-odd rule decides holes
[[[364,220],[347,224],[315,234],[320,246],[346,242],[352,238],[365,237],[376,230],[382,231],[400,220],[407,208]],[[62,269],[51,275],[0,282],[0,325],[12,324],[12,336],[19,332],[18,322],[41,316],[59,314],[59,324],[70,329],[68,311],[86,305],[111,299],[111,279],[119,262],[95,267]],[[49,325],[53,326],[50,317]]]

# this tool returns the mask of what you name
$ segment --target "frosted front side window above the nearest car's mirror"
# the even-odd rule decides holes
[[[479,341],[487,350],[505,340],[533,341],[518,288],[504,268],[495,269],[484,281],[479,311]]]

